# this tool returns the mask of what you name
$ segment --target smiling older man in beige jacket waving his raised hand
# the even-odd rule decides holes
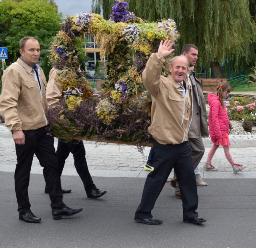
[[[152,97],[151,126],[155,149],[154,170],[146,178],[140,205],[134,220],[145,224],[161,224],[151,214],[154,204],[174,168],[182,195],[183,221],[205,222],[196,212],[198,196],[196,178],[188,143],[188,125],[191,117],[191,88],[185,81],[189,62],[185,56],[171,60],[167,77],[161,76],[163,62],[174,49],[170,40],[161,41],[142,72],[144,86]]]

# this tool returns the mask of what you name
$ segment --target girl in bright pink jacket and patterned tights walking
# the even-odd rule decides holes
[[[204,163],[204,170],[218,170],[211,162],[219,146],[223,146],[225,156],[232,165],[233,171],[239,172],[245,168],[241,164],[235,164],[230,151],[230,141],[228,139],[229,120],[223,98],[226,98],[231,91],[231,86],[227,82],[222,82],[217,87],[217,94],[208,94],[209,112],[209,133],[212,140],[212,148]]]

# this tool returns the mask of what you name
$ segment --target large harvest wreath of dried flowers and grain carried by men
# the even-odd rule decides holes
[[[144,94],[142,71],[160,40],[175,42],[179,35],[174,20],[146,22],[128,11],[128,3],[115,0],[110,20],[94,13],[67,16],[50,48],[50,62],[58,69],[56,82],[62,85],[60,104],[49,110],[50,132],[56,137],[149,145],[150,109],[136,101]],[[99,93],[88,86],[77,56],[83,52],[84,33],[90,32],[100,47],[106,82]],[[168,74],[170,58],[163,75]],[[144,102],[150,102],[148,95]]]

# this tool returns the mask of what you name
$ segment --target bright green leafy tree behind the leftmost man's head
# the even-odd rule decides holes
[[[24,36],[34,36],[39,40],[41,58],[44,58],[52,36],[60,29],[60,18],[53,0],[2,0],[0,44],[8,48],[8,63],[20,56],[19,42]]]

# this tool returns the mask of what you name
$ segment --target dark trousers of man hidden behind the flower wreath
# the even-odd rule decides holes
[[[96,186],[92,181],[91,174],[88,170],[88,165],[85,157],[84,143],[82,140],[72,140],[70,142],[66,142],[63,139],[58,139],[56,155],[58,158],[59,175],[61,176],[62,174],[62,170],[65,165],[65,160],[68,158],[70,152],[73,154],[74,165],[76,167],[78,175],[80,176],[84,184],[84,189],[86,193],[92,191],[93,189],[96,189]]]

